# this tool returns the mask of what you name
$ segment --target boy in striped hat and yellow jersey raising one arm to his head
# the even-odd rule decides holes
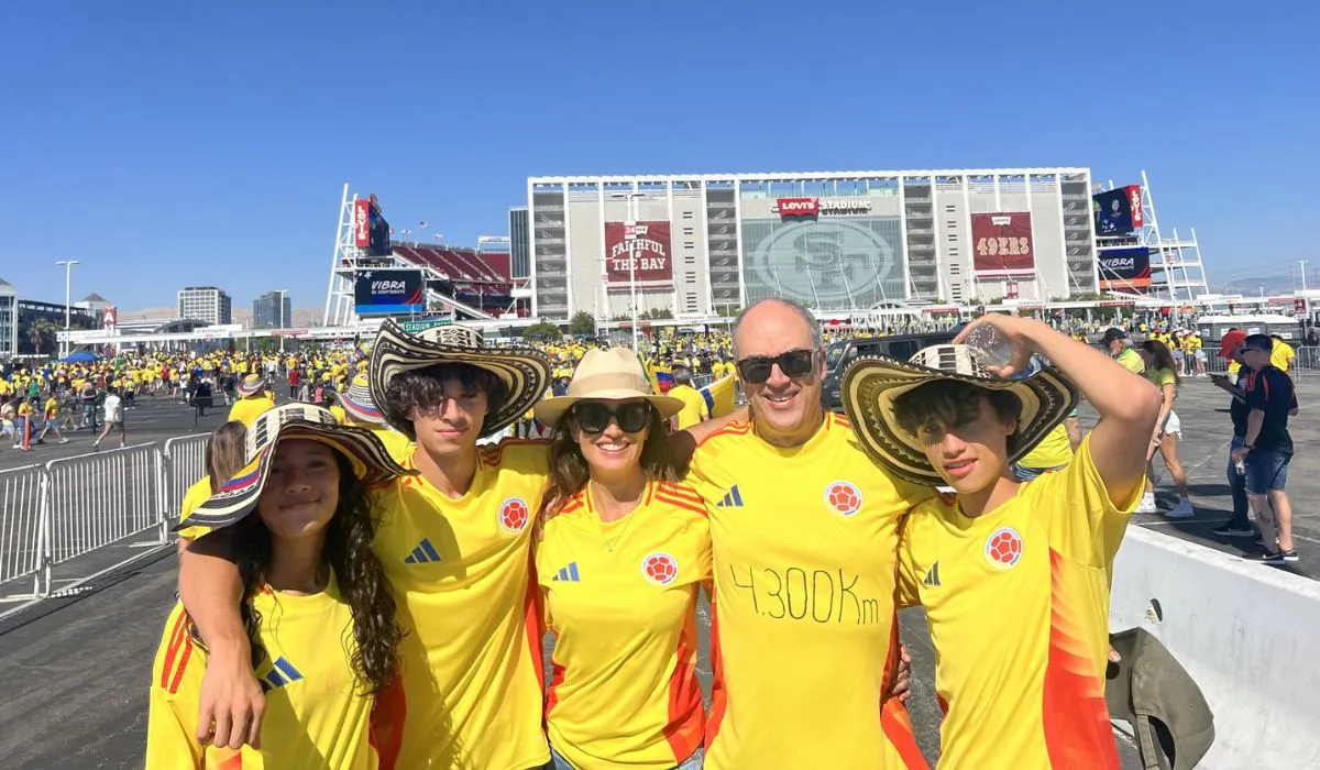
[[[1105,708],[1109,576],[1160,398],[1039,321],[990,314],[977,325],[1012,345],[1010,366],[941,345],[911,363],[861,359],[843,376],[867,454],[957,493],[908,516],[899,557],[900,590],[925,606],[936,648],[940,766],[1117,769]],[[1001,379],[1032,354],[1053,366]],[[1065,468],[1020,483],[1012,461],[1076,405],[1069,378],[1100,423]]]

